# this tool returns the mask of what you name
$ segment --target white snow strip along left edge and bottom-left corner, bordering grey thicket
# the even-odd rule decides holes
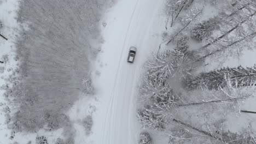
[[[0,67],[4,67],[4,73],[0,73],[0,86],[5,85],[7,81],[4,79],[8,79],[9,75],[12,71],[17,68],[18,62],[14,61],[15,57],[15,40],[17,39],[18,29],[20,29],[16,17],[17,11],[19,10],[19,1],[18,0],[8,0],[1,1],[0,0],[0,20],[3,23],[3,28],[0,29],[0,33],[3,34],[8,40],[0,37],[0,58],[3,55],[8,55],[9,61],[5,64],[0,63]],[[0,59],[3,61],[3,59]],[[12,68],[12,71],[8,71],[8,69]],[[10,84],[10,83],[9,83]],[[56,131],[45,131],[39,130],[37,133],[16,133],[14,139],[10,139],[11,130],[8,129],[7,124],[5,123],[5,112],[4,107],[9,106],[11,111],[16,110],[13,105],[8,105],[8,101],[5,100],[4,89],[0,89],[0,144],[7,143],[27,143],[31,141],[32,143],[36,143],[37,135],[44,135],[47,137],[48,141],[56,141],[57,137],[61,137],[62,129]]]

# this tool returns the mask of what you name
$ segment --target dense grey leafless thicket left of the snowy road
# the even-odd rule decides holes
[[[11,38],[16,55],[4,55],[0,67],[1,73],[10,71],[7,78],[2,76],[7,84],[1,88],[8,102],[5,124],[12,130],[11,140],[21,131],[64,128],[63,139],[56,143],[74,143],[73,125],[66,112],[78,97],[94,93],[91,60],[102,43],[102,13],[113,4],[102,0],[19,1],[16,21],[20,27]],[[7,27],[2,24],[6,23],[0,21],[0,28]],[[18,65],[15,69],[2,67],[13,59]],[[82,124],[88,133],[91,121],[85,116]],[[45,136],[34,139],[48,143]]]

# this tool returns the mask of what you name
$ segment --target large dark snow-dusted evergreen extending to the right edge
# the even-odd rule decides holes
[[[187,77],[184,85],[189,90],[202,87],[218,89],[226,87],[228,84],[234,87],[253,86],[255,82],[256,65],[251,68],[243,68],[242,66],[236,68],[226,67],[219,70],[212,70],[208,73],[201,73],[194,78]]]

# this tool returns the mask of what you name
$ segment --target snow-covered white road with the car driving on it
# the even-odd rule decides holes
[[[164,21],[162,0],[120,0],[107,13],[105,43],[98,56],[95,76],[99,103],[94,113],[95,144],[137,143],[140,132],[136,97],[143,63],[160,44]],[[127,63],[131,46],[137,47],[135,62]]]

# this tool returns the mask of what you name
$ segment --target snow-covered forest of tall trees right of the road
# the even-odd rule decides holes
[[[256,65],[223,66],[255,53],[256,2],[167,1],[164,11],[166,31],[139,90],[137,117],[152,139],[141,143],[159,139],[155,131],[168,143],[256,143],[252,123],[227,127],[254,97]]]

